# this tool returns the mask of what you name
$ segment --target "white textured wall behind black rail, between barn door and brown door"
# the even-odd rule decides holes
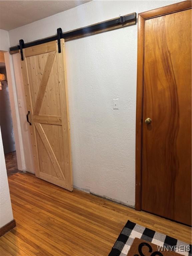
[[[10,43],[176,2],[92,1],[9,31]],[[74,186],[134,207],[137,25],[66,42],[66,63]]]

